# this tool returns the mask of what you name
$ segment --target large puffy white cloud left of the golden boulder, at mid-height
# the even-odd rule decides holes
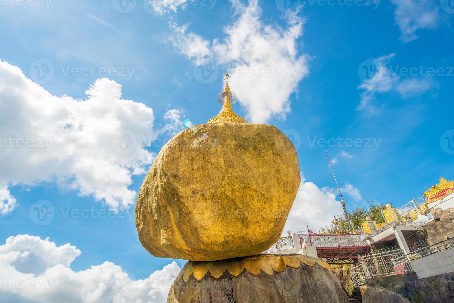
[[[154,158],[141,140],[158,133],[153,109],[122,99],[121,85],[105,78],[86,94],[54,96],[0,61],[0,184],[55,182],[111,209],[134,203],[132,175],[145,173]],[[15,204],[3,185],[0,212]]]

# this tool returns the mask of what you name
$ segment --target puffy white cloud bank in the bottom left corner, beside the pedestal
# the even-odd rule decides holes
[[[70,265],[80,255],[69,244],[18,235],[0,246],[0,296],[12,293],[30,302],[166,302],[180,268],[176,262],[148,278],[111,262],[74,272]]]

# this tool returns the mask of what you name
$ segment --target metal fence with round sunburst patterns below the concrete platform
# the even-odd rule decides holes
[[[410,273],[409,261],[402,249],[389,248],[358,259],[359,264],[350,268],[355,287],[365,285],[366,279]]]

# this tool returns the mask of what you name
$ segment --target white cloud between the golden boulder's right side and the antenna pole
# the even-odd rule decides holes
[[[329,188],[320,189],[312,182],[306,182],[301,175],[301,184],[295,202],[290,210],[283,234],[290,230],[296,233],[299,228],[309,226],[314,232],[322,226],[331,225],[333,214],[343,214],[342,206]]]

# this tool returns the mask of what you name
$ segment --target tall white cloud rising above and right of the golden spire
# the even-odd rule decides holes
[[[250,122],[265,123],[273,115],[283,118],[290,112],[290,95],[309,73],[309,57],[298,54],[296,42],[303,33],[304,20],[296,13],[287,14],[284,29],[261,20],[257,0],[249,0],[247,6],[231,2],[238,18],[224,28],[224,40],[210,43],[187,33],[188,25],[172,23],[173,46],[196,65],[214,60],[226,66],[230,87],[246,108]]]

